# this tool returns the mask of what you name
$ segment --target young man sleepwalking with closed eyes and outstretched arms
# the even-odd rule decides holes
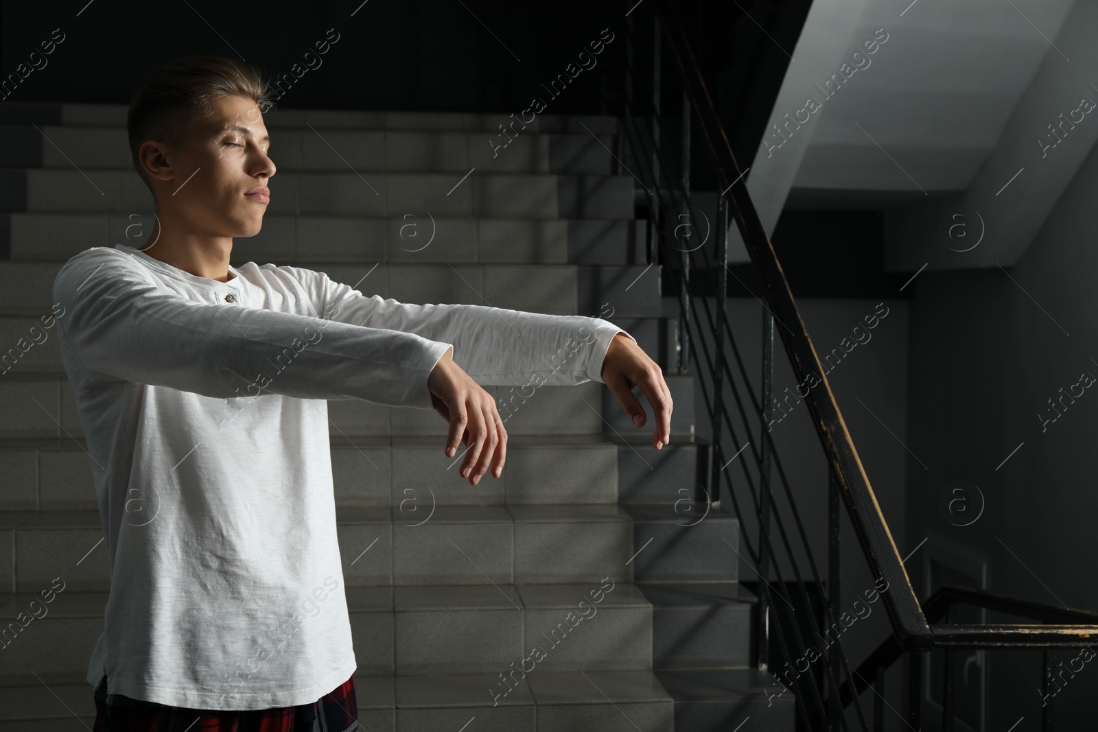
[[[507,446],[479,383],[602,381],[642,426],[640,386],[653,448],[669,441],[660,368],[605,320],[405,304],[298,267],[229,266],[279,195],[266,92],[220,57],[148,75],[127,127],[156,200],[152,244],[82,251],[54,285],[109,542],[87,676],[96,732],[355,728],[326,399],[434,408],[472,485],[490,466],[500,477]]]

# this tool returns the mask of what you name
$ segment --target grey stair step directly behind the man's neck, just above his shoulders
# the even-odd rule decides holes
[[[148,247],[156,228],[149,210],[5,216],[8,226],[0,219],[0,227],[16,261],[64,262],[85,249],[115,244]],[[271,213],[259,234],[236,241],[232,263],[636,264],[645,259],[646,241],[643,222],[624,219],[470,218],[424,211],[389,217]]]

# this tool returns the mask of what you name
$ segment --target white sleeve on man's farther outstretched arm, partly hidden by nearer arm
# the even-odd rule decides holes
[[[415,305],[367,297],[324,272],[298,270],[313,280],[323,317],[411,333],[453,344],[453,361],[479,384],[573,385],[603,382],[610,341],[623,328],[583,315],[546,315],[486,305]]]

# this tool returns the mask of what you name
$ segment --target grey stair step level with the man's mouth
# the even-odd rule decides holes
[[[470,174],[471,173],[471,174]],[[468,178],[466,177],[468,176]],[[271,179],[276,215],[439,217],[634,217],[631,176],[553,173],[283,172]],[[0,211],[144,214],[153,194],[135,170],[0,168]]]

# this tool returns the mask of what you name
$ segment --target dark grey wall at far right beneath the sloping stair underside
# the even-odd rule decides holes
[[[930,537],[923,549],[931,553],[952,545],[960,562],[985,561],[994,592],[1090,610],[1098,609],[1098,396],[1086,388],[1075,404],[1065,398],[1063,416],[1044,431],[1038,415],[1051,413],[1047,399],[1082,373],[1098,374],[1096,195],[1091,151],[1009,277],[996,267],[917,278],[907,435],[929,470],[906,462],[907,536]],[[984,514],[967,527],[938,508],[954,480],[984,495]],[[1023,714],[1023,724],[1035,723],[1040,673],[1034,654],[993,654],[988,729],[1008,729]],[[1093,724],[1096,699],[1098,663],[1087,663],[1056,696],[1058,729]]]

